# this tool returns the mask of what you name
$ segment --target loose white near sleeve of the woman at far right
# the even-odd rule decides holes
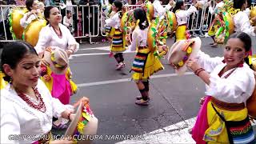
[[[228,78],[220,78],[218,73],[210,74],[210,86],[206,90],[206,94],[223,102],[246,102],[253,93],[255,86],[253,70],[250,70],[249,66],[247,67],[237,68],[238,70],[234,70],[234,73]]]

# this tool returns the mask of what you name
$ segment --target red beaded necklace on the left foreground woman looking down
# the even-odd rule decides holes
[[[22,92],[20,92],[18,90],[16,90],[16,92],[17,92],[18,96],[20,98],[22,98],[23,101],[25,101],[30,107],[33,107],[34,109],[37,109],[37,110],[41,111],[42,113],[45,113],[46,105],[45,105],[45,102],[42,101],[41,94],[38,92],[38,89],[36,87],[33,87],[33,90],[34,90],[34,94],[38,97],[38,101],[39,101],[38,105],[34,104],[34,102],[32,102],[30,100],[30,98],[28,98],[28,96],[26,96]]]

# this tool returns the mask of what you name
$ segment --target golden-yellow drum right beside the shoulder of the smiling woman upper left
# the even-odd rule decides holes
[[[46,26],[45,19],[34,19],[24,30],[24,40],[29,42],[32,46],[38,43],[39,33],[42,27]]]

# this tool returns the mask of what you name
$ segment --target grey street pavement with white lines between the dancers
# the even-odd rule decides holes
[[[223,46],[212,48],[210,42],[211,38],[202,38],[201,50],[212,57],[222,56]],[[168,46],[173,43],[174,39],[167,39]],[[73,80],[79,88],[71,103],[82,96],[90,98],[90,107],[98,118],[98,135],[91,137],[93,143],[194,143],[187,130],[194,125],[204,82],[189,70],[178,76],[162,59],[165,70],[150,79],[150,106],[137,106],[135,97],[140,93],[130,81],[135,53],[124,54],[126,68],[118,71],[114,58],[109,57],[109,46],[108,42],[85,43],[70,59]]]

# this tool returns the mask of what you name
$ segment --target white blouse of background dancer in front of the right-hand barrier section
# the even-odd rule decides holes
[[[177,18],[178,26],[186,24],[187,18],[190,16],[190,14],[194,12],[198,12],[197,8],[195,8],[194,6],[190,6],[188,10],[177,10],[175,15]]]

